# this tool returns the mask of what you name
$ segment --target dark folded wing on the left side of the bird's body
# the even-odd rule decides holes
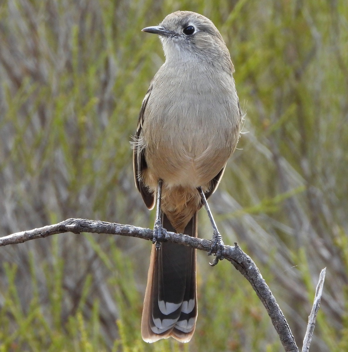
[[[152,209],[155,205],[155,199],[152,193],[149,192],[148,188],[142,182],[142,173],[147,169],[147,163],[145,160],[145,148],[140,147],[138,141],[141,139],[143,121],[145,116],[145,109],[147,102],[149,100],[150,94],[152,91],[152,84],[145,95],[145,98],[141,104],[141,109],[139,113],[138,119],[138,127],[136,129],[135,141],[133,147],[133,171],[134,171],[134,180],[135,185],[141,196],[143,197],[143,201],[149,209]]]

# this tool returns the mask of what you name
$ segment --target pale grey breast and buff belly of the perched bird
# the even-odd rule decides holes
[[[199,187],[218,174],[234,149],[238,98],[232,77],[230,84],[206,72],[185,77],[156,77],[143,123],[145,157],[154,178]]]

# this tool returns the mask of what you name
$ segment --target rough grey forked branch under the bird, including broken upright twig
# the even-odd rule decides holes
[[[18,232],[12,235],[1,237],[0,246],[23,243],[32,239],[44,238],[53,234],[64,232],[104,233],[138,237],[148,240],[152,240],[153,237],[153,230],[149,228],[86,219],[67,219],[65,221],[59,222],[58,224],[35,228],[34,230]],[[168,235],[168,241],[170,242],[185,246],[191,246],[193,248],[206,252],[210,250],[210,240],[190,237],[188,235],[177,234],[174,232],[168,232]],[[252,285],[252,288],[256,292],[257,296],[260,298],[261,302],[263,303],[268,312],[268,315],[271,318],[272,324],[279,335],[284,350],[286,352],[298,352],[294,336],[292,335],[290,327],[286,322],[285,316],[279,308],[275,297],[272,295],[271,290],[269,289],[268,285],[266,284],[253,260],[240,249],[237,243],[235,243],[235,246],[224,246],[224,258],[231,262],[233,266],[239,272],[241,272],[241,274],[243,274],[244,277]],[[324,280],[322,279],[321,288],[319,290],[317,289],[316,298],[318,297],[318,300],[316,300],[314,303],[316,306],[316,310],[315,313],[313,313],[312,311],[312,313],[314,314],[314,320],[311,320],[308,324],[308,348],[313,334],[315,316],[319,309],[323,281]],[[319,291],[320,296],[318,296]],[[303,351],[308,351],[308,349]]]

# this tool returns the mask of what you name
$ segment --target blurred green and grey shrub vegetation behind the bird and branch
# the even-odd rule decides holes
[[[347,1],[0,1],[0,235],[72,217],[153,226],[129,141],[164,61],[141,29],[176,10],[218,27],[246,112],[210,199],[225,244],[254,259],[300,346],[326,266],[311,351],[347,351]],[[283,350],[249,283],[202,253],[194,338],[143,342],[150,246],[67,233],[2,247],[0,351]]]

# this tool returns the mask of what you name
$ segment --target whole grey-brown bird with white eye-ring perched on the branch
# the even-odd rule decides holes
[[[141,334],[146,342],[188,342],[198,313],[196,251],[167,242],[167,231],[197,237],[198,210],[208,210],[243,118],[230,52],[210,19],[176,11],[142,31],[159,36],[165,63],[142,102],[133,142],[136,187],[149,209],[156,205]],[[216,264],[223,242],[208,215]]]

